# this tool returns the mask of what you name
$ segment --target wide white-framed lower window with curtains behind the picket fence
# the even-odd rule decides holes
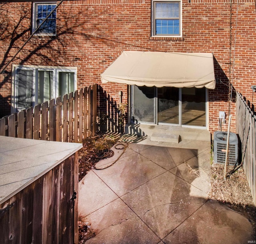
[[[76,76],[76,68],[15,66],[12,112],[74,92]]]

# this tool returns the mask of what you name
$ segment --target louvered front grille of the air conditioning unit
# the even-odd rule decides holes
[[[226,161],[226,148],[227,144],[217,143],[217,163],[224,164]],[[228,146],[228,162],[230,164],[236,164],[236,145],[229,144]]]

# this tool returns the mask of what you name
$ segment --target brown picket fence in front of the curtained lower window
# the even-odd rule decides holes
[[[0,119],[0,136],[82,142],[96,132],[97,85]]]

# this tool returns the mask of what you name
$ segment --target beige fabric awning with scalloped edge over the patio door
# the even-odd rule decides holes
[[[102,83],[215,88],[212,53],[124,51],[100,77]]]

